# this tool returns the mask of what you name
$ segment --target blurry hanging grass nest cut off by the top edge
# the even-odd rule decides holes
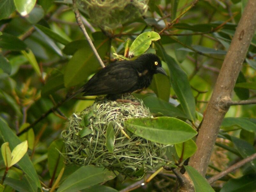
[[[111,31],[145,15],[148,0],[79,0],[94,25]]]

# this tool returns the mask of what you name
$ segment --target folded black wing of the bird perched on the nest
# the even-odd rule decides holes
[[[84,86],[84,95],[119,94],[134,91],[138,74],[129,64],[115,64],[96,73]]]

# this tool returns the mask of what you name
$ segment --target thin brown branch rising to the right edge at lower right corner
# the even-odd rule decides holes
[[[241,166],[245,165],[246,163],[249,163],[250,161],[252,161],[253,159],[256,159],[256,153],[252,154],[251,156],[235,163],[234,165],[231,165],[229,168],[227,168],[225,171],[222,171],[218,174],[216,174],[215,176],[209,178],[207,181],[209,183],[213,183],[214,181],[217,181],[218,179],[222,178],[223,176],[231,173],[232,171],[240,168]]]

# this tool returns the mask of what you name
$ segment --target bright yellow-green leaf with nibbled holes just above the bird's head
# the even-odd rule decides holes
[[[154,31],[141,33],[132,43],[129,56],[143,54],[150,46],[152,41],[161,39],[160,35]]]

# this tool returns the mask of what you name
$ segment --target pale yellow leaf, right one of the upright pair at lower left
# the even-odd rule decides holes
[[[26,154],[28,148],[27,140],[23,141],[22,143],[18,144],[12,151],[11,151],[11,165],[13,166]]]

